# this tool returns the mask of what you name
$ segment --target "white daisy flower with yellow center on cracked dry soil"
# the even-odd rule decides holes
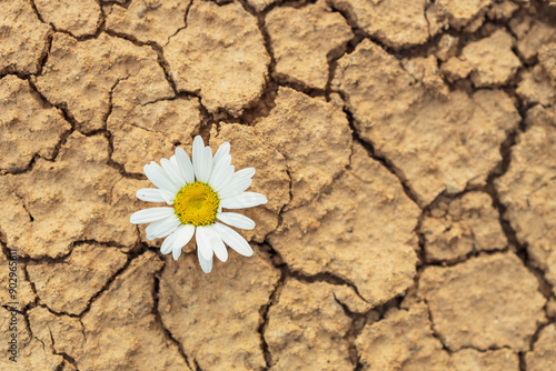
[[[137,198],[148,202],[167,202],[172,207],[151,208],[135,212],[133,224],[147,227],[149,240],[165,238],[160,251],[171,251],[175,260],[195,234],[197,255],[205,273],[212,270],[212,255],[228,260],[226,244],[245,257],[252,255],[249,243],[230,227],[251,230],[255,222],[246,215],[222,212],[222,209],[252,208],[267,203],[264,194],[246,192],[255,174],[254,168],[235,172],[230,143],[224,142],[212,157],[202,138],[193,140],[192,162],[186,151],[176,148],[176,156],[146,164],[145,174],[157,188],[137,191]],[[220,222],[218,222],[219,220]],[[224,223],[224,224],[222,224]],[[228,225],[226,225],[228,224]]]

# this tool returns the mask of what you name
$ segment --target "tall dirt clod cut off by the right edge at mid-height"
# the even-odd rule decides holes
[[[508,171],[495,184],[506,205],[505,218],[520,243],[527,244],[533,264],[556,270],[556,120],[554,108],[527,112],[527,131],[512,150]]]

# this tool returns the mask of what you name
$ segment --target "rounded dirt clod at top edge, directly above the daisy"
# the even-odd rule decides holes
[[[232,2],[195,2],[187,28],[170,38],[163,54],[176,86],[199,93],[209,112],[238,117],[262,92],[270,58],[257,20]]]

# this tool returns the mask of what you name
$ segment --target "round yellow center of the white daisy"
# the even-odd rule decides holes
[[[176,215],[183,224],[209,225],[216,221],[220,199],[206,183],[196,181],[179,190],[173,200]]]

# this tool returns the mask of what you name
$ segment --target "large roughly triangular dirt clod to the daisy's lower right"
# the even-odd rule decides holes
[[[411,284],[419,209],[391,173],[354,147],[357,167],[314,202],[282,212],[284,223],[268,240],[294,270],[338,275],[378,305]]]

